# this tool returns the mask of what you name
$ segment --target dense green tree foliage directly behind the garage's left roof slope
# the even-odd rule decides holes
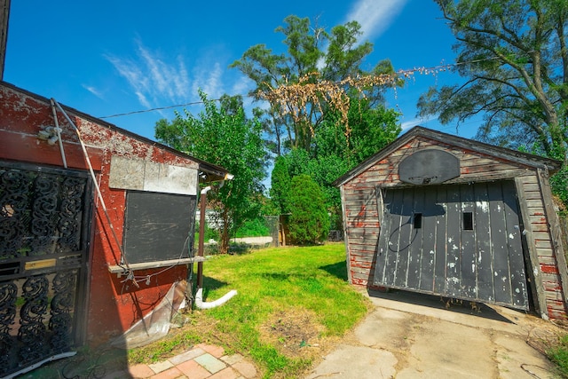
[[[290,181],[309,175],[321,188],[331,227],[342,229],[341,198],[333,186],[336,178],[357,166],[398,137],[398,113],[381,105],[371,107],[367,99],[351,99],[347,127],[338,122],[338,112],[328,112],[312,140],[312,150],[293,148],[274,162],[271,198],[283,213],[288,213],[287,193]]]

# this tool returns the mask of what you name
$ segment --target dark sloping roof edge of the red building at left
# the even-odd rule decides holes
[[[25,95],[27,95],[27,96],[29,96],[29,97],[31,97],[31,98],[37,99],[38,101],[43,101],[43,102],[45,102],[46,104],[50,104],[50,99],[47,99],[47,98],[45,98],[45,97],[43,97],[43,96],[41,96],[41,95],[38,95],[38,94],[36,94],[36,93],[34,93],[34,92],[30,92],[30,91],[23,90],[23,89],[21,89],[21,88],[15,86],[15,85],[13,85],[13,84],[11,84],[11,83],[7,83],[7,82],[4,82],[4,81],[0,81],[0,85],[1,85],[1,86],[4,86],[4,87],[7,87],[7,88],[10,88],[10,89],[12,89],[13,91],[21,92],[21,93],[23,93],[23,94],[25,94]],[[92,116],[91,114],[85,114],[85,113],[83,113],[83,112],[81,112],[81,111],[76,110],[75,108],[67,107],[67,106],[65,106],[65,105],[63,105],[63,104],[59,104],[59,105],[60,105],[63,109],[65,109],[66,112],[75,114],[75,115],[77,115],[77,116],[79,116],[79,117],[81,117],[81,118],[83,118],[83,119],[85,119],[85,120],[87,120],[87,121],[97,123],[97,124],[99,124],[100,126],[106,127],[106,128],[108,128],[108,129],[110,129],[110,130],[114,130],[114,131],[116,131],[116,132],[118,132],[118,133],[121,133],[121,134],[124,135],[124,136],[128,136],[128,137],[130,137],[130,138],[137,139],[138,141],[143,142],[143,143],[145,143],[145,144],[147,144],[147,145],[156,146],[156,147],[161,148],[162,150],[167,150],[167,151],[170,152],[171,154],[176,154],[177,156],[179,156],[179,157],[181,157],[181,158],[185,158],[185,159],[191,160],[191,161],[193,161],[193,162],[197,162],[197,163],[199,164],[199,170],[200,170],[201,172],[203,172],[203,173],[207,176],[207,181],[224,180],[225,178],[230,178],[230,177],[231,177],[231,174],[229,173],[229,171],[226,170],[225,168],[221,167],[221,166],[217,166],[217,165],[215,165],[215,164],[212,164],[212,163],[203,161],[203,160],[201,160],[201,159],[195,158],[195,157],[193,157],[192,155],[182,153],[182,152],[180,152],[179,150],[176,150],[176,149],[174,149],[174,148],[171,148],[170,146],[163,145],[163,144],[161,144],[161,143],[159,143],[159,142],[156,142],[156,141],[154,141],[154,140],[152,140],[152,139],[150,139],[150,138],[146,138],[146,137],[140,136],[139,134],[133,133],[133,132],[131,132],[131,131],[129,131],[129,130],[125,130],[125,129],[119,128],[118,126],[114,125],[113,123],[110,123],[110,122],[106,122],[106,121],[104,121],[104,120],[101,120],[101,119],[99,119],[99,118],[97,118],[97,117]]]

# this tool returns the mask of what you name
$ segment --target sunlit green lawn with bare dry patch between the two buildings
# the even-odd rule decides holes
[[[129,351],[131,362],[168,358],[205,342],[252,359],[264,377],[300,377],[369,309],[347,283],[343,243],[216,256],[204,275],[205,301],[231,289],[238,295],[185,314],[189,323],[171,336]]]

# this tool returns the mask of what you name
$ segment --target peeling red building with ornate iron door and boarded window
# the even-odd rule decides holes
[[[167,330],[199,260],[200,181],[227,176],[0,82],[0,376]]]

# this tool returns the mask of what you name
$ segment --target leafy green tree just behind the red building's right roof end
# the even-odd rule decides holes
[[[263,191],[266,162],[262,126],[256,118],[246,117],[240,97],[224,96],[218,107],[201,91],[200,97],[204,109],[198,116],[185,111],[171,122],[156,122],[155,138],[233,173],[232,180],[211,192],[214,199],[210,201],[223,226],[220,252],[225,253],[230,235],[258,215],[256,198]]]

